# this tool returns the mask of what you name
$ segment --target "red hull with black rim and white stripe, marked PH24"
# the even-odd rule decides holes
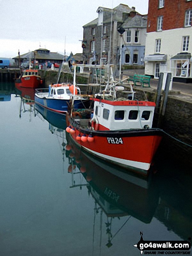
[[[72,125],[72,123],[70,124]],[[87,137],[92,134],[93,142],[77,140],[77,136],[79,134],[82,136],[84,133]],[[76,127],[74,134],[70,133],[70,136],[79,147],[101,159],[147,174],[162,140],[162,131],[154,128],[127,131],[88,131]]]

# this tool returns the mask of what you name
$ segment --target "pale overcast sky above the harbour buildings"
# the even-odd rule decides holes
[[[0,0],[0,57],[39,48],[62,55],[81,53],[83,26],[98,17],[98,7],[120,3],[148,13],[148,0]]]

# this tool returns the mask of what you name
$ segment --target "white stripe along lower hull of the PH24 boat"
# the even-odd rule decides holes
[[[135,167],[135,168],[138,168],[138,169],[142,169],[142,170],[148,171],[148,169],[150,168],[150,165],[151,165],[151,164],[148,164],[148,163],[142,163],[142,162],[137,162],[137,161],[125,160],[125,159],[121,159],[121,158],[117,158],[117,157],[110,157],[108,155],[104,155],[104,154],[98,153],[96,151],[93,151],[93,150],[91,150],[91,149],[89,149],[87,147],[83,147],[83,148],[88,150],[89,152],[91,152],[92,154],[94,154],[96,156],[108,159],[110,161],[113,161],[113,162],[116,162],[116,163],[119,163],[119,164],[123,164],[125,166],[131,166],[131,167]]]

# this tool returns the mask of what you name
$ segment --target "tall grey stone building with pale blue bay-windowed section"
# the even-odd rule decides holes
[[[83,26],[84,63],[106,63],[110,55],[110,63],[118,64],[121,44],[121,64],[143,65],[141,60],[145,51],[146,16],[143,17],[135,11],[135,7],[130,8],[125,4],[119,4],[114,9],[98,7],[97,13],[98,18]],[[125,32],[122,36],[121,31]],[[131,41],[127,41],[127,33],[130,33]]]

